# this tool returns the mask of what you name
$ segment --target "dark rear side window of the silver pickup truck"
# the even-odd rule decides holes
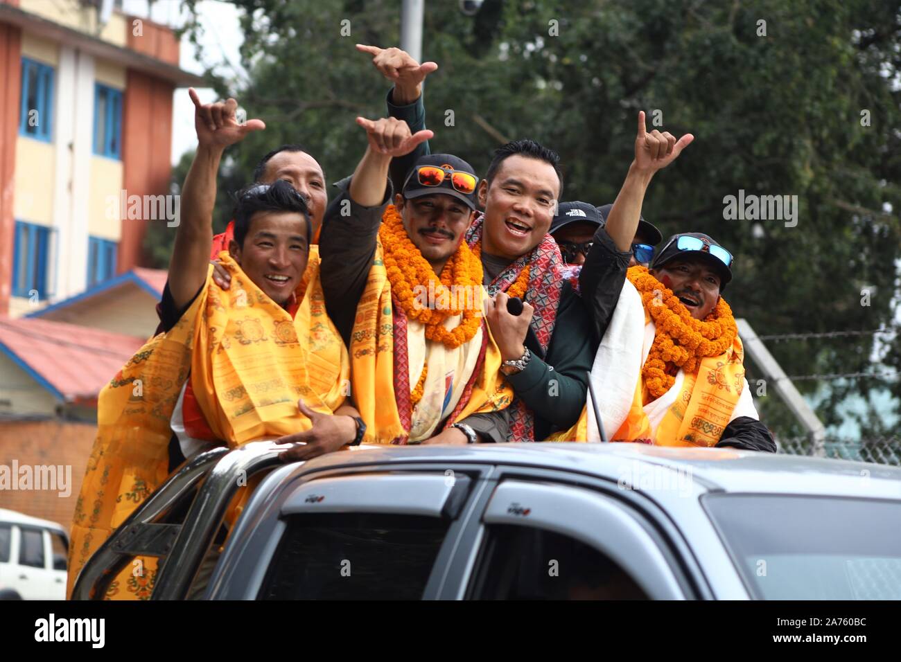
[[[259,599],[421,599],[449,524],[382,513],[291,515]]]

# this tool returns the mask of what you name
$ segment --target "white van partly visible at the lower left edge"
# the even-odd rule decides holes
[[[55,521],[0,508],[0,595],[65,600],[68,533]]]

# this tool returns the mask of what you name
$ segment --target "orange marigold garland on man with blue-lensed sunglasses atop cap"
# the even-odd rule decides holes
[[[648,268],[630,268],[626,277],[642,296],[656,330],[642,367],[644,385],[654,398],[676,382],[669,367],[681,367],[691,375],[697,372],[702,358],[718,357],[733,346],[738,327],[723,297],[704,321],[696,320],[672,290],[648,273]]]

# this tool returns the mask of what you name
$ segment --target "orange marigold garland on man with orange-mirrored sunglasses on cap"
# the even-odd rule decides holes
[[[481,300],[477,299],[481,296],[482,262],[472,254],[466,241],[460,241],[457,251],[441,270],[441,276],[435,277],[432,265],[423,258],[407,236],[403,219],[395,205],[387,206],[378,236],[382,240],[391,293],[407,318],[421,322],[425,326],[425,337],[441,342],[445,347],[457,348],[472,340],[482,324]],[[449,305],[441,308],[421,305],[414,292],[416,286],[423,286],[426,292],[431,290],[436,302],[446,301]],[[455,287],[457,295],[454,293]],[[471,297],[459,295],[467,291],[472,293]],[[471,305],[465,305],[467,300]],[[463,304],[463,309],[457,308],[458,304]],[[450,331],[445,329],[443,322],[457,315],[463,317],[460,324]],[[423,380],[423,377],[420,379]]]

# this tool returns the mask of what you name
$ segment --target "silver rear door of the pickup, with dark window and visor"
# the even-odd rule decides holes
[[[268,496],[264,508],[249,503],[208,597],[434,597],[480,485],[478,467],[457,468],[306,476]]]

